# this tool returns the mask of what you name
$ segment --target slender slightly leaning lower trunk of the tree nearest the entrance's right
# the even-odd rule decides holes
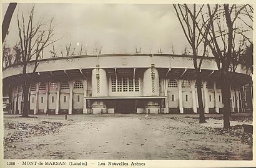
[[[202,88],[201,88],[202,79],[200,76],[197,77],[197,99],[199,105],[199,123],[206,123],[204,116],[204,106],[203,106],[203,96],[202,96]]]

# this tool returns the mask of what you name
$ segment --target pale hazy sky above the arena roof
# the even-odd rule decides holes
[[[18,42],[17,12],[31,9],[31,4],[18,4],[12,16],[7,45]],[[2,18],[7,4],[2,4]],[[60,50],[72,42],[72,47],[87,45],[91,54],[96,42],[103,46],[102,54],[133,53],[134,45],[142,47],[142,53],[157,52],[181,54],[189,44],[185,39],[180,23],[174,14],[172,4],[36,4],[34,21],[44,16],[44,21],[54,17],[56,25],[55,46]],[[49,23],[49,22],[48,22]],[[44,58],[50,57],[49,50]]]

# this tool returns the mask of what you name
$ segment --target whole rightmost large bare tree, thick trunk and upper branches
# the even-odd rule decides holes
[[[230,80],[229,72],[232,60],[234,60],[235,42],[237,42],[238,27],[236,21],[246,10],[248,4],[207,4],[208,17],[210,22],[210,31],[205,42],[212,50],[215,62],[220,71],[220,80],[222,86],[222,102],[224,105],[224,128],[230,128]],[[223,7],[223,8],[222,8]],[[203,17],[204,21],[205,18]]]

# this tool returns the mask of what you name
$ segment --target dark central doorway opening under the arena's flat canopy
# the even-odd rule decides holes
[[[116,100],[115,113],[129,114],[136,113],[134,99]]]

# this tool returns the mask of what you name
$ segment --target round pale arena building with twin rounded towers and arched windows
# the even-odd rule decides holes
[[[200,57],[198,58],[200,59]],[[29,114],[197,113],[193,57],[170,54],[101,54],[57,57],[27,65],[32,85]],[[3,69],[11,114],[22,111],[22,65]],[[220,73],[214,57],[202,61],[205,113],[222,113]],[[237,66],[229,73],[230,105],[245,112],[244,85],[252,81]]]

